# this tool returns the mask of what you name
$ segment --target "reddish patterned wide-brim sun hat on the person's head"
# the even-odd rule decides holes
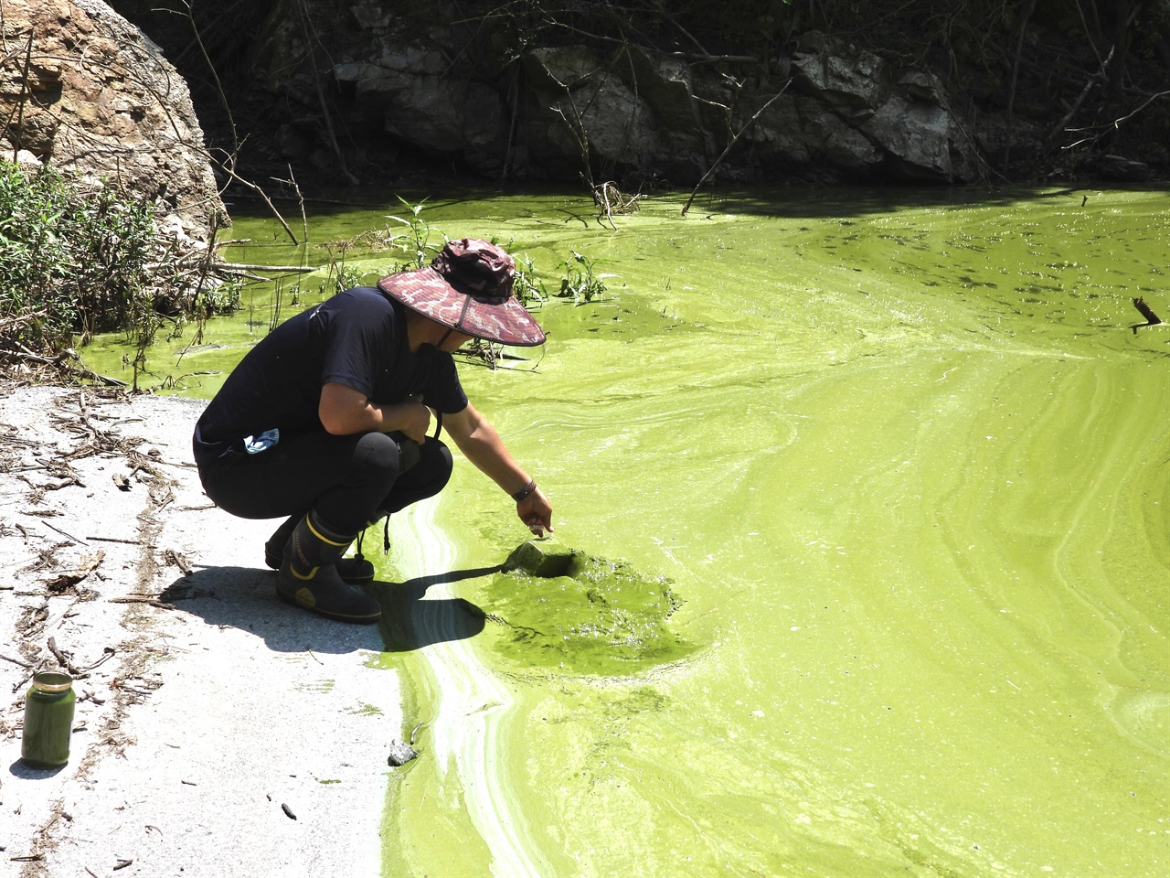
[[[512,295],[516,263],[488,241],[447,241],[427,268],[399,272],[378,288],[456,332],[517,348],[544,343],[544,330]]]

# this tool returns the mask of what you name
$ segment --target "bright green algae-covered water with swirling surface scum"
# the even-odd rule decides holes
[[[425,725],[386,874],[1164,876],[1170,329],[1131,299],[1170,320],[1170,193],[681,205],[425,207],[550,287],[572,251],[617,275],[461,368],[601,579],[500,571],[528,533],[466,461],[395,517],[385,660]],[[209,396],[267,324],[154,377]]]

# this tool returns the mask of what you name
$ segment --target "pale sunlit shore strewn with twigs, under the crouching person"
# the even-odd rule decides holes
[[[373,626],[280,603],[277,522],[212,507],[202,403],[0,389],[0,873],[376,876],[398,679]],[[34,670],[68,766],[20,761]]]

